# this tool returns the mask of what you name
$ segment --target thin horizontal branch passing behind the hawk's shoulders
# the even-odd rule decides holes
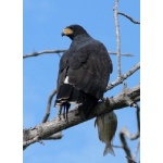
[[[24,54],[23,59],[27,59],[27,58],[32,58],[32,57],[38,57],[38,55],[41,55],[41,54],[54,54],[54,53],[60,54],[60,53],[63,53],[66,50],[42,50],[42,51],[38,51],[38,52],[35,51],[35,52],[32,52],[32,53],[28,53],[28,54]],[[109,51],[109,54],[116,55],[117,53]],[[121,55],[122,57],[134,57],[130,53],[122,53]]]

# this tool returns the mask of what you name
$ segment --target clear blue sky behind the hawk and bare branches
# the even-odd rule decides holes
[[[61,37],[62,29],[71,24],[79,24],[96,39],[103,42],[109,51],[116,51],[115,27],[113,20],[114,0],[24,0],[23,4],[23,53],[34,51],[67,49],[71,40]],[[118,11],[135,20],[140,20],[139,1],[122,0]],[[120,16],[122,53],[131,53],[134,58],[122,58],[122,73],[126,73],[140,60],[140,28],[123,16]],[[114,71],[110,82],[116,79],[116,57],[111,55]],[[39,124],[45,115],[47,100],[57,86],[58,54],[46,54],[23,61],[23,127]],[[127,79],[128,87],[139,84],[139,72]],[[122,91],[118,86],[104,96],[111,97]],[[51,108],[50,120],[58,110]],[[118,125],[114,145],[121,145],[118,133],[123,126],[135,134],[135,109],[126,108],[115,111]],[[104,143],[98,139],[95,120],[63,130],[62,140],[43,141],[45,146],[35,143],[24,151],[24,163],[105,163],[126,162],[122,149],[114,149],[115,155],[103,156]],[[128,141],[135,151],[137,141]]]

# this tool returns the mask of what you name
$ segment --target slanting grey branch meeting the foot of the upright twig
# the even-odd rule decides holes
[[[106,91],[114,88],[115,86],[122,84],[126,78],[133,75],[137,70],[140,68],[140,63],[137,63],[134,67],[131,67],[126,74],[122,75],[120,78],[109,84],[106,87]]]

